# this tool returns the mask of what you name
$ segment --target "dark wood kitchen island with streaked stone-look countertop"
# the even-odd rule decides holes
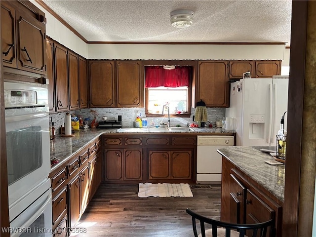
[[[256,223],[275,220],[281,236],[285,165],[270,165],[269,154],[252,147],[219,149],[222,155],[221,220]],[[272,233],[270,233],[272,236]]]

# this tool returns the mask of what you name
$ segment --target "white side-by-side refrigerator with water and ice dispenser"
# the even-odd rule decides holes
[[[231,83],[225,116],[235,121],[237,146],[276,146],[287,111],[288,78],[250,78]],[[286,130],[287,113],[284,116]]]

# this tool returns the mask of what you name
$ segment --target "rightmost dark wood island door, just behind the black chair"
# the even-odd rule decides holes
[[[275,211],[248,189],[246,190],[246,197],[246,224],[254,224],[275,219]],[[269,227],[268,233],[270,233],[270,231]],[[249,233],[247,236],[249,236]],[[257,236],[260,236],[259,233]],[[269,236],[270,235],[268,235],[268,237]]]

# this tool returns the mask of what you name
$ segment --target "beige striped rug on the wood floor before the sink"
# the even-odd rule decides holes
[[[139,183],[138,197],[193,197],[189,184]]]

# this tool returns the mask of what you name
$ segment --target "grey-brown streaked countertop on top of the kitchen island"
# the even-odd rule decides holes
[[[252,147],[230,146],[217,151],[278,200],[284,202],[285,165],[267,164],[265,160],[274,158]]]

